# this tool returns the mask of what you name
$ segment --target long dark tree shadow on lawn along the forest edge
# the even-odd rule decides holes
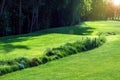
[[[6,36],[0,37],[0,44],[9,44],[13,42],[22,42],[30,39],[34,39],[37,36],[44,36],[47,34],[72,34],[72,35],[91,35],[95,28],[91,28],[90,26],[86,25],[84,22],[75,25],[75,26],[65,26],[60,28],[52,28],[46,29],[34,33],[23,34],[23,35],[14,35],[14,36]],[[6,45],[7,46],[7,45]]]

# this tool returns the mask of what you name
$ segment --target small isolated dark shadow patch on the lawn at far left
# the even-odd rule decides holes
[[[24,46],[24,45],[12,45],[12,44],[5,44],[1,47],[1,50],[3,50],[5,53],[9,53],[15,49],[29,50],[30,48],[28,48],[27,46]]]

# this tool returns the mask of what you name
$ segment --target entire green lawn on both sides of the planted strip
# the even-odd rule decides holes
[[[20,56],[36,57],[41,55],[46,48],[74,42],[83,36],[96,36],[98,33],[109,36],[107,36],[107,42],[97,49],[10,73],[1,76],[0,80],[119,80],[119,21],[91,21],[74,27],[49,29],[24,36],[4,37],[0,41],[0,57],[5,60],[8,57],[11,59]],[[116,35],[111,35],[111,33]]]

